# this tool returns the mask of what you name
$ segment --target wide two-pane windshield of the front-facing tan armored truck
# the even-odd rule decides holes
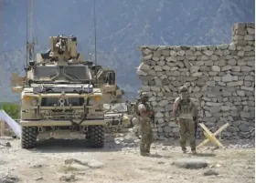
[[[88,66],[37,66],[34,70],[35,80],[91,80]]]

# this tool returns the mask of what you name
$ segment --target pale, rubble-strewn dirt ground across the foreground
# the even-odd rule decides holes
[[[37,148],[21,149],[18,139],[0,138],[0,182],[88,183],[254,183],[254,142],[238,142],[225,149],[202,147],[198,155],[182,154],[178,142],[155,143],[151,157],[141,157],[137,144],[107,143],[103,149],[83,147],[80,140],[48,140]],[[5,147],[10,142],[11,147]],[[251,145],[246,145],[251,143]],[[165,146],[172,145],[172,146]],[[189,148],[188,148],[189,149]],[[176,168],[181,158],[205,159],[207,168]],[[210,170],[210,171],[209,171]],[[219,175],[205,175],[213,172]]]

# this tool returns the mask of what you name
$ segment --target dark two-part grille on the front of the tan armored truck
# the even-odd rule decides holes
[[[83,106],[83,97],[69,97],[65,100],[65,106],[79,107]],[[41,107],[53,107],[54,105],[59,106],[59,97],[42,97]]]

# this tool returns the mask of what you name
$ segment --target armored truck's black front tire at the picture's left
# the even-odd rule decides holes
[[[22,127],[21,128],[21,147],[33,148],[37,142],[37,127]]]

